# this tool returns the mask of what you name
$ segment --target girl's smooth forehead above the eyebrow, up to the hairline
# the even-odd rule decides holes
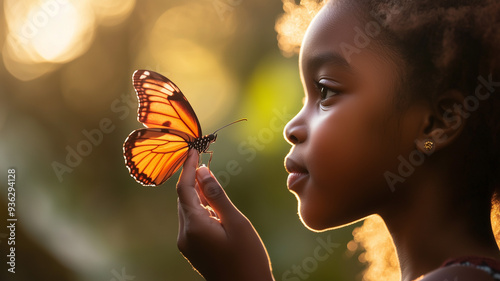
[[[382,26],[368,21],[353,2],[328,2],[304,36],[299,59],[301,71],[330,63],[351,72],[360,68],[367,71],[375,65],[394,67],[395,58],[389,55],[393,52],[379,42],[383,40],[381,30]]]

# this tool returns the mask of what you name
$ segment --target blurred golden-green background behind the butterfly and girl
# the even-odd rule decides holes
[[[142,127],[131,76],[150,69],[184,92],[204,134],[248,118],[219,132],[211,169],[261,235],[276,280],[361,280],[360,223],[313,233],[286,188],[282,130],[303,96],[296,52],[319,7],[302,2],[0,1],[0,279],[202,280],[176,246],[178,174],[142,187],[124,165],[123,141]],[[314,257],[321,241],[336,245],[326,260]]]

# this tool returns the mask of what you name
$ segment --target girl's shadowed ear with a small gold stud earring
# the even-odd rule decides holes
[[[432,102],[430,110],[424,115],[421,138],[416,141],[420,151],[430,154],[455,141],[471,114],[466,112],[464,100],[461,92],[451,90]]]

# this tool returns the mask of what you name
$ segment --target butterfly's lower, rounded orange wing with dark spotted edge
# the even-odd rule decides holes
[[[130,175],[146,186],[168,180],[184,163],[190,134],[166,129],[145,128],[133,131],[123,144],[125,164]]]

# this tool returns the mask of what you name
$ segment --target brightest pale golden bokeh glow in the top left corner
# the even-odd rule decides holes
[[[3,63],[19,80],[36,79],[84,54],[98,24],[118,24],[134,6],[135,0],[5,0]]]

